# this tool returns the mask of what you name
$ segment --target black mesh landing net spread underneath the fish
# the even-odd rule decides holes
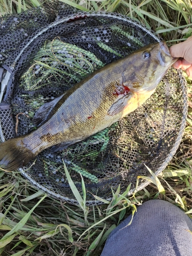
[[[42,104],[94,70],[160,40],[128,17],[63,4],[5,16],[0,34],[0,61],[11,73],[0,105],[1,141],[34,129],[32,119]],[[93,195],[110,200],[111,188],[119,184],[122,193],[131,183],[132,193],[137,176],[150,175],[144,164],[156,174],[165,168],[182,138],[186,114],[185,79],[171,68],[152,97],[123,120],[62,152],[47,149],[34,165],[19,170],[34,186],[75,204],[64,161],[81,195],[79,173],[83,176],[86,203],[100,204]],[[141,181],[138,189],[146,185]]]

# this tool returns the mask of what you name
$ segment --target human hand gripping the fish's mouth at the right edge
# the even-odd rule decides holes
[[[192,77],[192,36],[186,41],[170,47],[172,57],[180,57],[173,67],[186,71],[187,76]]]

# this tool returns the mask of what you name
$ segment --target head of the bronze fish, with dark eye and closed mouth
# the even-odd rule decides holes
[[[130,91],[152,91],[177,61],[172,57],[165,41],[140,48],[130,55],[131,69],[123,73],[123,83]]]

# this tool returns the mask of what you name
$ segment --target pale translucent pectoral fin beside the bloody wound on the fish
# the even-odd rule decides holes
[[[107,114],[110,116],[114,116],[122,112],[127,107],[128,101],[130,100],[131,96],[132,93],[130,92],[124,95],[123,97],[119,98],[111,105],[111,108],[108,110]]]

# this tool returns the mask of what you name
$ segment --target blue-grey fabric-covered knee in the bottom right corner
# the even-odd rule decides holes
[[[101,256],[190,256],[192,221],[179,207],[150,200],[119,224],[106,241]]]

